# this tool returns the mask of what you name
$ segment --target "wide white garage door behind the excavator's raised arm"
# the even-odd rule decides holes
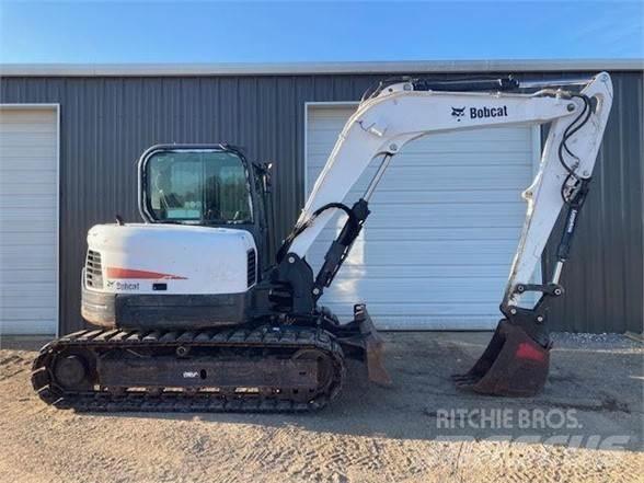
[[[308,106],[309,193],[354,107]],[[376,325],[402,330],[493,329],[539,157],[532,127],[440,134],[395,156],[371,198],[371,215],[321,303],[347,320],[366,302]],[[378,160],[345,204],[358,199]],[[343,218],[308,260],[317,269]]]

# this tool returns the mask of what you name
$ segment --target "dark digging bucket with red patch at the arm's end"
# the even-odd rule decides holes
[[[469,372],[453,376],[457,388],[482,394],[532,396],[545,384],[550,345],[542,347],[524,329],[503,319]]]

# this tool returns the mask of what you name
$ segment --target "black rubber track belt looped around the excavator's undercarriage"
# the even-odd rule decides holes
[[[333,358],[335,380],[331,393],[320,394],[309,402],[254,395],[226,396],[217,392],[125,392],[108,391],[71,393],[53,383],[55,355],[66,348],[89,350],[141,349],[168,346],[185,347],[261,347],[317,348]],[[85,330],[66,335],[45,345],[32,366],[32,386],[39,398],[58,409],[79,412],[306,412],[317,411],[331,402],[342,389],[345,378],[344,357],[333,336],[322,330],[283,326],[250,330],[198,332]]]

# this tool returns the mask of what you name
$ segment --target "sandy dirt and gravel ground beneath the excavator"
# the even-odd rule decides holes
[[[41,341],[0,347],[5,482],[635,482],[644,474],[644,349],[559,335],[544,392],[458,392],[486,333],[389,333],[391,388],[352,377],[308,415],[74,414],[30,387]]]

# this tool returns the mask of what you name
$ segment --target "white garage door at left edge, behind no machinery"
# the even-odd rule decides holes
[[[58,114],[0,106],[0,332],[58,325]]]

